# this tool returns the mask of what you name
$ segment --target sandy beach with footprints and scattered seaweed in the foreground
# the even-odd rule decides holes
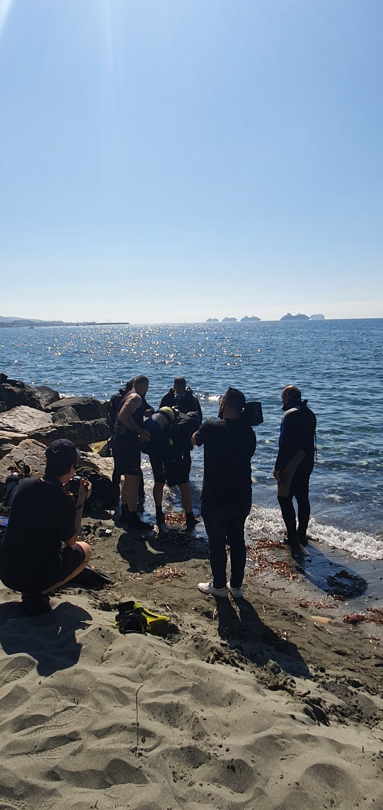
[[[1,810],[383,808],[381,625],[315,601],[286,555],[216,602],[203,527],[84,524],[114,586],[36,618],[1,590]],[[120,634],[131,598],[177,632]]]

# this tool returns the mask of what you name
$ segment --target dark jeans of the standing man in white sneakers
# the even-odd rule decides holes
[[[246,565],[245,521],[250,505],[234,509],[215,509],[202,504],[201,515],[208,535],[208,550],[216,588],[226,586],[226,545],[230,547],[230,585],[240,588]]]

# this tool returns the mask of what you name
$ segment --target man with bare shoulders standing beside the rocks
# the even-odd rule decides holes
[[[124,475],[121,491],[121,522],[132,529],[150,531],[151,523],[141,520],[137,515],[138,487],[141,477],[141,442],[149,441],[150,436],[144,428],[144,416],[151,412],[145,394],[149,388],[148,377],[134,377],[127,384],[127,393],[120,402],[116,416],[116,428],[113,437],[112,453],[116,469]]]

